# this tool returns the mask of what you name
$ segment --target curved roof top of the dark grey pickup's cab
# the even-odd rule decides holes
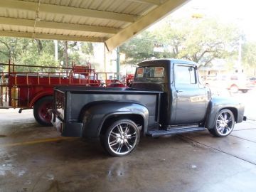
[[[153,64],[154,65],[163,65],[164,64],[190,64],[190,65],[197,65],[197,63],[191,61],[191,60],[183,60],[183,59],[174,59],[174,58],[160,58],[160,59],[154,59],[154,60],[144,60],[141,63],[139,63],[139,66],[142,66],[144,64]]]

